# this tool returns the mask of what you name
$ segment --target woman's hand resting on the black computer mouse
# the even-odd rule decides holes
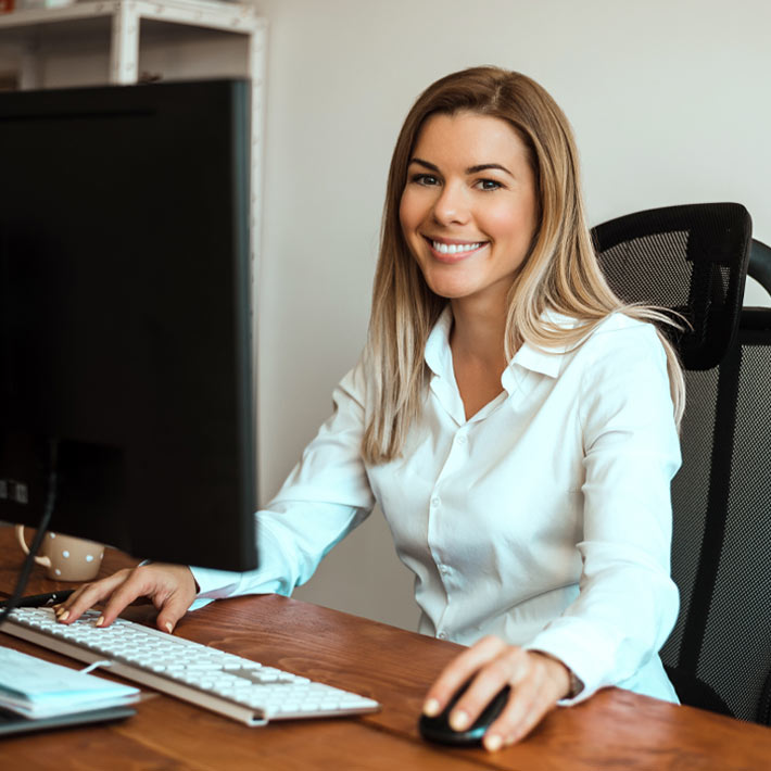
[[[518,742],[570,693],[570,670],[561,661],[488,636],[444,668],[426,694],[424,712],[439,715],[475,673],[450,715],[450,725],[456,731],[473,723],[502,687],[511,686],[508,703],[482,740],[489,750]]]

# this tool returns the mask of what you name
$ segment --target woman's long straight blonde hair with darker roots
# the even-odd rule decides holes
[[[679,426],[685,401],[682,369],[658,329],[673,321],[662,308],[622,302],[605,280],[585,224],[578,151],[568,119],[531,78],[498,67],[472,67],[437,80],[420,94],[391,159],[365,347],[369,405],[365,459],[378,464],[397,457],[420,415],[430,377],[424,359],[426,340],[446,300],[426,285],[404,239],[399,208],[409,159],[426,119],[464,111],[506,121],[527,147],[535,179],[539,222],[508,294],[506,357],[524,342],[539,347],[580,345],[615,312],[656,323]],[[543,319],[546,309],[582,324],[566,330]]]

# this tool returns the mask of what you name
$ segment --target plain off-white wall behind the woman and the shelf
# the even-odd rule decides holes
[[[358,356],[390,153],[409,105],[437,77],[491,63],[542,83],[574,126],[591,224],[655,206],[738,201],[755,236],[771,243],[768,0],[255,1],[270,20],[263,500]],[[48,63],[51,84],[106,72],[103,55],[75,53]],[[172,77],[191,64],[199,74],[230,74],[233,55],[217,46],[153,50],[141,66]],[[749,300],[768,301],[759,290]],[[379,516],[295,596],[408,628],[417,621],[412,579]]]

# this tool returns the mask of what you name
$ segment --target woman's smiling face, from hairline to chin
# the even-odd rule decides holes
[[[534,175],[514,128],[470,112],[430,117],[409,160],[400,222],[434,293],[505,303],[538,222]]]

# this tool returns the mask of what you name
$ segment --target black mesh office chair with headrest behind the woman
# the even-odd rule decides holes
[[[612,289],[666,306],[685,368],[683,465],[672,482],[681,611],[661,658],[683,704],[771,724],[771,249],[738,204],[671,206],[592,236]]]

